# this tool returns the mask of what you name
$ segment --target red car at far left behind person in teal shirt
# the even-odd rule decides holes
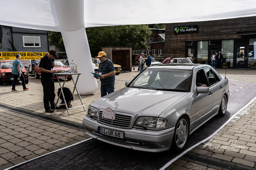
[[[3,83],[7,81],[13,81],[12,62],[13,61],[0,61],[0,85],[3,85]],[[28,71],[22,64],[21,68],[25,83],[28,84]],[[20,81],[20,78],[18,78],[18,81]]]

